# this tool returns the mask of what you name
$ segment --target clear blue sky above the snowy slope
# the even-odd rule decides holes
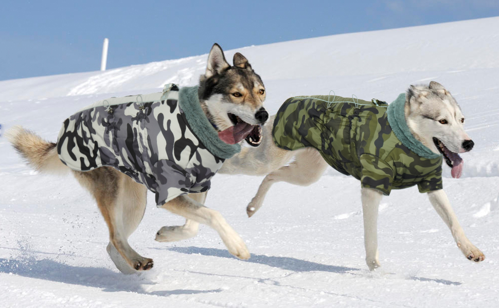
[[[0,80],[108,69],[338,33],[499,16],[495,0],[24,1],[0,10]],[[292,51],[290,51],[292,52]]]

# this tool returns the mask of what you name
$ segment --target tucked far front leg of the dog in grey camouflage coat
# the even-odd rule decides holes
[[[193,199],[201,204],[206,201],[208,191],[199,192],[198,194],[189,194],[188,198]],[[170,201],[171,202],[171,201]],[[175,242],[192,238],[198,234],[199,222],[192,219],[186,219],[182,226],[164,226],[156,233],[156,241],[158,242]]]

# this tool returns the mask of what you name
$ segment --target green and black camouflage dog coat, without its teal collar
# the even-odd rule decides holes
[[[388,105],[378,104],[329,95],[290,98],[277,112],[272,136],[282,149],[316,148],[334,169],[385,195],[414,185],[420,192],[442,189],[442,157],[409,150],[391,130]]]

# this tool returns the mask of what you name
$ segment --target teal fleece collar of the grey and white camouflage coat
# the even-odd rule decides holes
[[[228,159],[241,151],[239,144],[227,144],[218,138],[218,132],[211,126],[201,108],[198,86],[181,88],[179,104],[192,131],[213,155]]]

